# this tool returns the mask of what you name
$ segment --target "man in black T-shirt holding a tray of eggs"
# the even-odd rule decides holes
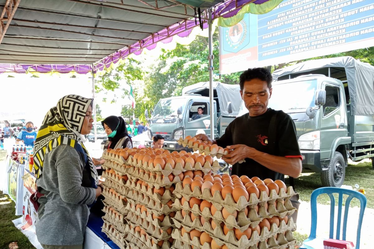
[[[267,107],[272,96],[271,73],[265,68],[252,68],[244,71],[239,79],[240,95],[249,113],[234,119],[217,140],[205,134],[198,134],[196,138],[232,150],[223,159],[233,165],[234,175],[282,181],[284,175],[298,177],[302,156],[295,124],[286,113]],[[273,117],[275,125],[270,127]],[[276,132],[270,131],[272,128]],[[243,159],[245,162],[239,164]]]

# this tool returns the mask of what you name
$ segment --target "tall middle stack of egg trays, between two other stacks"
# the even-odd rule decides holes
[[[171,248],[172,217],[177,210],[172,206],[175,183],[187,175],[211,174],[219,168],[218,162],[211,156],[163,149],[124,149],[117,154],[121,155],[116,157],[118,169],[128,178],[123,186],[128,201],[123,242],[129,248]]]

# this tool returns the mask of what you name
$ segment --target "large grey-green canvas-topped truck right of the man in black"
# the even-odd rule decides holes
[[[349,158],[373,164],[374,66],[346,56],[278,69],[269,107],[294,120],[303,172],[320,172],[324,186],[343,184]]]

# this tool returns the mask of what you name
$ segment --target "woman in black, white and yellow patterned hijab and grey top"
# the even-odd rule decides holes
[[[44,249],[82,249],[88,205],[101,194],[82,135],[92,129],[92,99],[67,95],[51,108],[37,134],[34,169],[39,198],[36,235]]]

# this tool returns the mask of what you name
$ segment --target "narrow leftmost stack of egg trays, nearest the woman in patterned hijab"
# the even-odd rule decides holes
[[[125,172],[125,165],[123,164],[123,156],[126,156],[125,150],[122,149],[108,149],[103,154],[105,163],[102,165],[104,171],[102,177],[105,181],[102,183],[105,197],[103,200],[105,215],[102,217],[104,224],[102,231],[110,237],[113,242],[125,248],[124,237],[126,229],[125,217],[128,215],[128,195],[129,188],[126,186],[129,178]],[[127,155],[128,156],[128,155]]]

